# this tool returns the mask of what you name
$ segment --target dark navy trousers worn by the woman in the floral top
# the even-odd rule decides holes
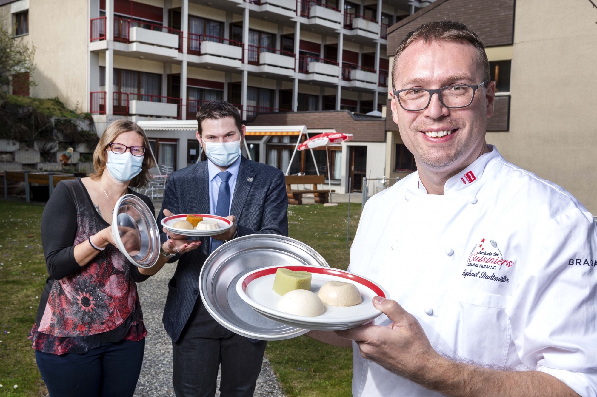
[[[126,397],[135,392],[144,349],[145,339],[121,340],[84,354],[35,351],[35,361],[50,397]]]

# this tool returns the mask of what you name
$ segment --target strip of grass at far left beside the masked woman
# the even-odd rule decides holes
[[[45,395],[27,339],[47,277],[39,236],[43,210],[0,202],[0,396]]]

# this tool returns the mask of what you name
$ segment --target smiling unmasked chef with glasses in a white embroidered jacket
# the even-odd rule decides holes
[[[418,171],[367,202],[349,267],[392,300],[376,298],[374,324],[310,336],[352,346],[354,396],[596,396],[595,222],[485,144],[481,40],[421,26],[396,51],[393,89]]]

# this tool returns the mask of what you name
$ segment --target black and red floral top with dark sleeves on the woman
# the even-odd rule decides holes
[[[136,196],[153,210],[147,196]],[[56,186],[41,221],[50,278],[29,335],[33,349],[54,354],[85,353],[104,342],[146,336],[135,281],[144,281],[147,276],[112,244],[85,266],[75,260],[74,246],[108,226],[81,179]]]

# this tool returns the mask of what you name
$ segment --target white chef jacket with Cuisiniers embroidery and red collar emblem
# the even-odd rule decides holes
[[[543,371],[597,396],[593,216],[489,147],[444,195],[427,195],[414,172],[371,197],[349,271],[389,291],[442,355]],[[439,396],[362,358],[356,343],[352,393]]]

